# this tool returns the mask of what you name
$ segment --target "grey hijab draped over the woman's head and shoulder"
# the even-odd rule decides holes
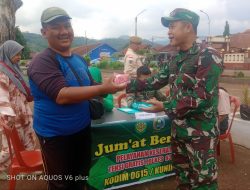
[[[30,91],[27,88],[28,85],[24,80],[24,75],[19,65],[11,62],[11,58],[21,52],[23,48],[24,47],[22,45],[13,40],[8,40],[0,46],[0,61],[6,65],[4,66],[3,64],[0,64],[0,72],[6,74],[26,97],[30,97]],[[7,69],[7,67],[10,69]]]

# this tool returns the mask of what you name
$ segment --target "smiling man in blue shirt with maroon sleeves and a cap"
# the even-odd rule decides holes
[[[28,76],[34,96],[33,127],[40,142],[45,174],[62,176],[48,180],[48,189],[82,190],[87,188],[91,164],[88,100],[123,90],[125,85],[116,85],[114,77],[101,85],[91,84],[87,63],[71,52],[74,32],[65,10],[45,9],[41,25],[49,47],[31,61]]]

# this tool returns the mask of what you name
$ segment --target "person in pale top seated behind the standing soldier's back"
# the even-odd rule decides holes
[[[219,129],[220,135],[227,132],[228,119],[231,113],[230,96],[225,88],[219,87],[219,103],[218,103],[218,118],[219,118]]]

